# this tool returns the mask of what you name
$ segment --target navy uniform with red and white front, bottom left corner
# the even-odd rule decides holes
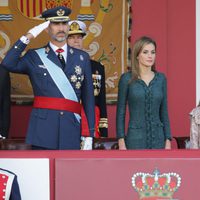
[[[0,199],[21,200],[17,176],[0,168]]]

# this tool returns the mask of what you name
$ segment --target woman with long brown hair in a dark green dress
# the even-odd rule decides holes
[[[118,86],[117,138],[120,150],[171,149],[167,83],[155,70],[156,42],[143,36],[132,49],[132,69]],[[125,134],[126,104],[129,109]]]

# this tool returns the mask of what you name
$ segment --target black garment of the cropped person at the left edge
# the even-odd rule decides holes
[[[8,137],[10,127],[10,76],[0,65],[0,134]]]

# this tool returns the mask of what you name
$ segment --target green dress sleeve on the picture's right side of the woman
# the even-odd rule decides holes
[[[160,118],[161,122],[164,125],[164,134],[165,140],[171,140],[171,131],[170,131],[170,124],[169,124],[169,116],[168,116],[168,106],[167,106],[167,80],[164,76],[163,79],[163,99],[160,107]]]

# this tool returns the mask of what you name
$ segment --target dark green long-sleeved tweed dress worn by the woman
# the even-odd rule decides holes
[[[125,134],[125,115],[128,103],[129,124]],[[143,80],[131,81],[124,73],[119,81],[117,102],[117,137],[125,138],[128,149],[161,149],[171,139],[167,83],[164,74],[155,73],[149,86]]]

